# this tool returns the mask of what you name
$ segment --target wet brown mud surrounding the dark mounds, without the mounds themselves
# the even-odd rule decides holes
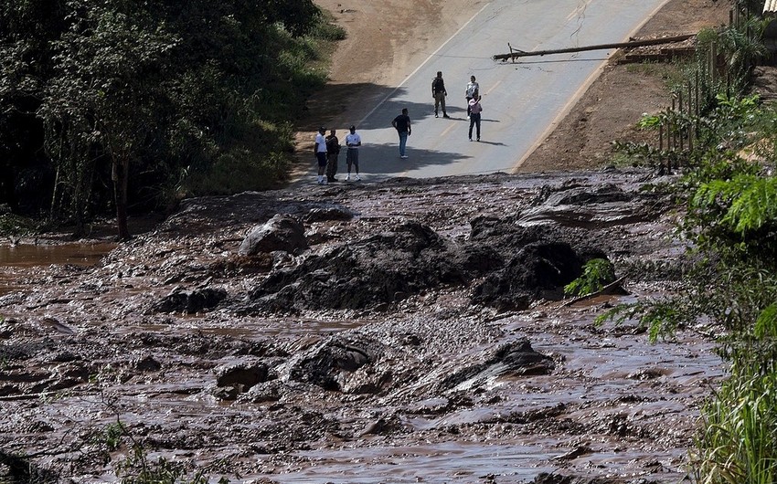
[[[470,288],[456,286],[412,294],[389,309],[153,310],[179,288],[223,288],[238,298],[261,284],[271,264],[299,263],[291,256],[235,262],[242,238],[269,218],[256,216],[257,207],[280,213],[324,197],[357,213],[354,221],[307,223],[311,250],[324,257],[329,247],[383,233],[397,220],[419,219],[452,239],[468,237],[482,213],[569,226],[580,208],[549,205],[548,195],[577,187],[593,193],[589,184],[626,190],[644,175],[630,176],[302,187],[201,200],[116,249],[3,247],[0,451],[35,456],[35,466],[61,482],[118,482],[130,442],[107,451],[104,435],[121,421],[150,461],[164,457],[189,475],[201,469],[213,483],[513,484],[541,473],[679,482],[699,407],[723,376],[708,328],[651,344],[634,321],[594,323],[619,302],[671,290],[661,280],[628,282],[628,296],[539,300],[527,310],[473,305]],[[551,186],[548,195],[543,185]],[[676,257],[682,247],[665,242],[664,221],[633,220],[630,210],[608,200],[583,214],[591,215],[583,225],[601,220],[601,247],[623,239],[612,252],[618,267],[626,267],[623,259]],[[505,373],[491,363],[496,348],[521,340],[551,358],[552,371]],[[380,356],[338,374],[338,390],[294,374],[338,341],[378,348]],[[225,397],[219,369],[239,364],[266,364],[277,376]],[[442,384],[448,381],[455,383]]]

